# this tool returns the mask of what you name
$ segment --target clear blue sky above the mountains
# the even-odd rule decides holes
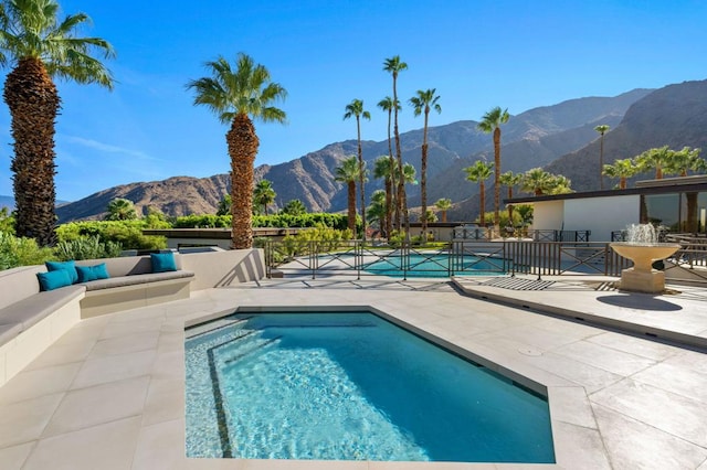
[[[203,63],[239,52],[265,65],[288,97],[288,124],[255,122],[256,164],[275,164],[356,138],[344,108],[362,99],[362,138],[384,140],[392,95],[382,71],[400,55],[405,102],[400,130],[422,127],[407,100],[436,88],[430,125],[478,120],[494,106],[511,115],[585,96],[615,96],[707,78],[707,2],[701,0],[60,0],[83,11],[85,36],[109,41],[117,84],[57,82],[56,195],[75,201],[137,181],[229,171],[226,126],[194,107],[190,79]],[[9,68],[2,71],[1,79]],[[0,105],[0,194],[12,194],[12,140]]]

